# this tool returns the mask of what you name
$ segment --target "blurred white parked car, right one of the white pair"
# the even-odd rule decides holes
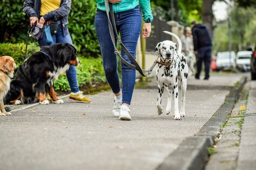
[[[252,51],[238,51],[235,57],[235,67],[239,71],[250,71]]]

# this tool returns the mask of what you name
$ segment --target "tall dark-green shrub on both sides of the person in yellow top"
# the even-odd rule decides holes
[[[0,43],[24,43],[29,18],[23,13],[24,0],[4,0],[0,3]],[[100,46],[94,27],[94,0],[73,0],[69,13],[69,32],[81,57],[98,57]],[[35,42],[32,38],[29,42]]]

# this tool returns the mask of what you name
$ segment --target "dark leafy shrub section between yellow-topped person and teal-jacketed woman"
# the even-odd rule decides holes
[[[100,45],[94,26],[96,8],[97,3],[94,0],[72,1],[68,28],[81,57],[100,55]]]

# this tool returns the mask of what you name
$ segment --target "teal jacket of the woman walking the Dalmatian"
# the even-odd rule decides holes
[[[97,2],[97,8],[106,11],[104,0],[94,0]],[[140,4],[142,10],[142,18],[145,22],[152,22],[153,16],[150,8],[150,0],[122,0],[120,3],[113,4],[113,11],[123,12],[134,9]]]

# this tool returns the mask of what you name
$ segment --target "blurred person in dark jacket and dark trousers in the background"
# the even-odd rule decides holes
[[[207,27],[204,24],[198,24],[196,21],[191,23],[194,53],[196,56],[196,69],[195,79],[200,78],[202,62],[205,63],[205,80],[209,79],[209,71],[212,56],[212,39]]]

